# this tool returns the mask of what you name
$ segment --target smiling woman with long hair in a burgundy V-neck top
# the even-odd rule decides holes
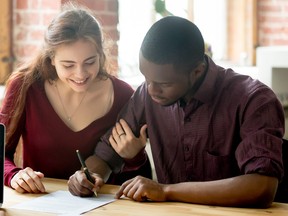
[[[45,192],[44,177],[68,179],[94,152],[133,93],[107,71],[103,37],[87,9],[65,8],[51,22],[40,53],[7,82],[0,122],[7,127],[5,185]],[[14,163],[20,137],[23,169]]]

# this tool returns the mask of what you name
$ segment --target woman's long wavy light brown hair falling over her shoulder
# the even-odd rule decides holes
[[[21,86],[13,93],[13,106],[9,108],[9,127],[7,127],[7,143],[11,135],[16,131],[17,125],[24,111],[26,94],[29,87],[36,81],[57,80],[58,76],[55,67],[51,64],[51,59],[55,55],[55,50],[61,44],[73,43],[79,39],[92,42],[100,56],[100,71],[98,78],[106,79],[108,74],[108,63],[104,47],[104,37],[101,26],[96,20],[92,11],[75,3],[66,3],[56,16],[44,36],[42,49],[37,54],[19,66],[6,82],[6,89],[13,85],[15,80],[21,81]]]

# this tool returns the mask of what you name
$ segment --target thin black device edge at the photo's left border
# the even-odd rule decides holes
[[[5,149],[5,126],[0,123],[0,207],[4,199],[4,149]]]

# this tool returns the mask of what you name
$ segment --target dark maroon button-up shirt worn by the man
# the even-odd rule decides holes
[[[147,123],[158,181],[209,181],[248,173],[281,179],[284,113],[275,94],[209,58],[208,64],[205,80],[189,103],[160,106],[144,83],[120,115],[136,135]],[[107,144],[109,135],[95,151],[119,170],[123,160]],[[135,169],[144,158],[139,154],[126,165]]]

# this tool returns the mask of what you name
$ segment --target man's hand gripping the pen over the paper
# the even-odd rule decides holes
[[[91,177],[95,179],[92,184],[82,170],[76,171],[68,180],[68,188],[74,196],[89,197],[98,192],[104,185],[103,178],[95,173],[91,173]]]

